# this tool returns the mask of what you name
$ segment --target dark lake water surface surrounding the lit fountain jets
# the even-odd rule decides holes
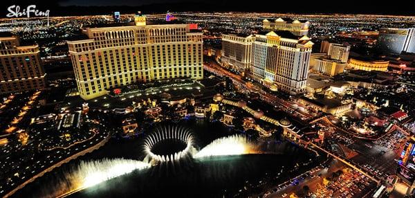
[[[175,124],[175,123],[174,123]],[[178,125],[193,130],[198,149],[208,145],[221,136],[231,134],[230,129],[221,123],[183,120]],[[158,127],[155,125],[154,127]],[[149,129],[151,131],[151,129]],[[53,172],[49,172],[25,188],[19,190],[14,197],[45,197],[59,188],[56,183],[65,183],[67,172],[80,161],[97,159],[135,159],[144,158],[142,152],[143,136],[130,139],[113,138],[99,150],[70,161]],[[302,164],[314,159],[311,152],[287,141],[270,138],[264,141],[275,154],[249,154],[240,156],[215,156],[202,159],[183,159],[179,163],[160,164],[147,170],[138,170],[109,181],[104,181],[91,188],[76,192],[70,197],[233,197],[239,190],[246,193],[255,190],[261,179],[283,172],[288,175],[295,164]],[[181,149],[183,145],[174,145],[171,149]],[[158,145],[156,152],[168,153],[170,146]],[[255,183],[255,184],[254,184]],[[244,197],[239,193],[239,197]]]

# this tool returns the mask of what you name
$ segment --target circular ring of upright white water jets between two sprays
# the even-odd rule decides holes
[[[186,145],[184,150],[172,154],[155,154],[153,147],[165,140],[180,141]],[[144,141],[145,162],[151,164],[174,162],[183,159],[185,156],[193,156],[197,152],[194,147],[194,136],[189,129],[167,125],[158,127],[153,133],[149,134]]]

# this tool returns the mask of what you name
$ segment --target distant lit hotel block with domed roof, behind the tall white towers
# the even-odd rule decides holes
[[[264,19],[262,21],[262,28],[267,31],[282,31],[287,30],[297,36],[304,36],[308,34],[308,21],[299,21],[287,18],[278,19]]]

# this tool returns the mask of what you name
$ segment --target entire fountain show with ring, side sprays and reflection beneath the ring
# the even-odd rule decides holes
[[[173,142],[168,142],[173,141]],[[174,143],[183,145],[178,151],[172,151]],[[156,147],[167,148],[160,153]],[[189,170],[193,159],[209,156],[228,156],[241,154],[257,154],[257,146],[248,141],[246,136],[233,135],[218,138],[198,152],[196,150],[194,134],[185,127],[166,125],[158,127],[149,134],[143,142],[143,161],[132,159],[101,159],[97,161],[80,161],[73,169],[63,172],[64,177],[54,181],[54,188],[44,189],[42,197],[66,197],[80,190],[95,186],[98,183],[120,177],[135,170],[147,168],[154,177],[174,175],[175,172]],[[190,166],[187,166],[190,165]],[[190,168],[191,169],[191,168]],[[163,174],[164,172],[164,174]]]

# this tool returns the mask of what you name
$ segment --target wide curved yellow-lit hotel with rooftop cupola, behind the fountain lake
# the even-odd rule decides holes
[[[89,100],[107,89],[169,78],[203,78],[203,33],[191,24],[86,28],[89,39],[68,41],[81,98]]]

